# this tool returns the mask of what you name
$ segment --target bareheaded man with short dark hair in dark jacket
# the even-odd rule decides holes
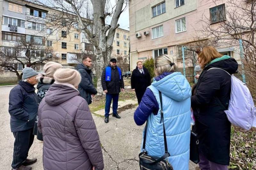
[[[81,74],[82,80],[78,86],[80,96],[83,97],[88,104],[92,103],[92,97],[97,94],[97,90],[92,83],[92,58],[85,56],[82,63],[76,66],[76,70]]]

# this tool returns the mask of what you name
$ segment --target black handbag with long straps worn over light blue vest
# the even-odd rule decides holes
[[[160,91],[159,91],[159,98],[160,98],[160,104],[161,104],[161,110],[160,110],[161,111],[161,120],[160,120],[160,123],[163,120],[163,128],[164,128],[164,113],[162,111],[162,108],[163,108],[162,93]],[[146,127],[145,127],[142,152],[140,152],[140,154],[139,154],[140,170],[173,170],[173,167],[168,162],[168,159],[167,160],[165,159],[165,158],[170,156],[170,153],[168,152],[168,148],[167,148],[165,128],[164,128],[164,150],[165,150],[164,155],[161,158],[149,156],[148,152],[145,150],[147,125],[148,125],[148,122],[146,123]]]

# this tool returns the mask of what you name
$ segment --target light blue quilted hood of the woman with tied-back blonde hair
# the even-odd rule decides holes
[[[176,101],[183,101],[191,97],[190,85],[180,72],[174,72],[159,79],[156,77],[151,85]]]

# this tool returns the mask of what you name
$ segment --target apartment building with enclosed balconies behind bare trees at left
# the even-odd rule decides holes
[[[86,35],[79,30],[78,24],[65,29],[65,23],[61,29],[47,25],[45,19],[48,14],[56,13],[54,9],[30,3],[24,0],[0,0],[0,46],[3,51],[12,53],[15,44],[22,38],[26,41],[34,41],[44,47],[52,47],[54,54],[59,58],[64,68],[74,68],[81,59],[82,54],[92,54],[93,46]],[[86,22],[86,19],[84,19]],[[30,51],[35,57],[44,55],[44,51]],[[21,54],[21,59],[22,55]],[[10,63],[20,72],[20,63]],[[29,66],[28,64],[25,66]],[[30,67],[30,66],[29,66]],[[43,72],[43,65],[36,65],[35,69]],[[15,82],[17,76],[10,71],[3,71],[0,82]]]

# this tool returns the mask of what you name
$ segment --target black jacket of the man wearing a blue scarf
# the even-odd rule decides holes
[[[117,94],[120,93],[121,89],[124,89],[124,80],[122,76],[121,80],[119,79],[119,72],[116,67],[111,67],[111,80],[106,81],[106,68],[104,68],[101,74],[101,85],[103,91],[108,90],[108,93]]]

